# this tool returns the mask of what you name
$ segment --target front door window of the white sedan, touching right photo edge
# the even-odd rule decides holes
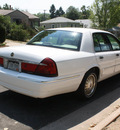
[[[120,42],[112,35],[107,34],[113,50],[120,50]]]

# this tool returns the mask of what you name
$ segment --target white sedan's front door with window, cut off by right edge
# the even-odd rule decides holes
[[[110,34],[106,34],[111,46],[112,46],[112,49],[115,53],[115,72],[116,73],[119,73],[120,72],[120,41],[114,37],[113,35],[110,35]]]

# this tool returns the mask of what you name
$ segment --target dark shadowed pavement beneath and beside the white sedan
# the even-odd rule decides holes
[[[35,99],[12,91],[0,93],[0,113],[33,129],[49,127],[61,120],[61,129],[68,129],[97,114],[120,96],[120,75],[98,84],[96,94],[89,100],[75,93],[46,99]],[[75,117],[74,117],[75,115]],[[76,116],[77,115],[77,116]],[[68,119],[69,118],[69,119]],[[66,121],[64,121],[66,120]]]

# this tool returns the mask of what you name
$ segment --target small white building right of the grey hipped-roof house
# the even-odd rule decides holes
[[[79,22],[80,26],[83,28],[91,28],[92,21],[90,19],[78,19],[75,21]]]

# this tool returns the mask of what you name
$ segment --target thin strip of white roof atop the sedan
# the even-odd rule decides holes
[[[90,33],[97,33],[97,32],[101,32],[101,33],[109,33],[107,31],[103,31],[103,30],[97,30],[97,29],[90,29],[90,28],[52,28],[52,29],[47,29],[47,30],[64,30],[64,31],[75,31],[75,32],[81,32],[81,33],[85,33],[85,32],[90,32]]]

